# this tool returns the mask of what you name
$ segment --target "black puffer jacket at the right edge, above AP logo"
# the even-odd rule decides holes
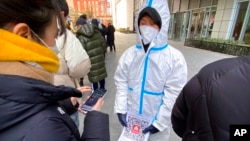
[[[250,57],[223,59],[195,75],[177,98],[174,131],[183,141],[229,141],[232,124],[250,124]]]

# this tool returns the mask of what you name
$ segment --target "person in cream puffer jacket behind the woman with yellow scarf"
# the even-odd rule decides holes
[[[57,1],[61,9],[61,17],[66,23],[69,14],[68,4],[66,0]],[[56,39],[56,46],[59,51],[57,56],[60,61],[60,68],[54,76],[54,84],[77,88],[79,79],[86,76],[90,71],[91,63],[89,56],[80,41],[68,29],[66,29],[65,34]],[[91,89],[87,86],[84,88]],[[66,109],[68,110],[66,112],[71,115],[71,118],[79,127],[78,98],[71,97],[70,99],[60,101],[60,104],[63,107],[67,107]]]

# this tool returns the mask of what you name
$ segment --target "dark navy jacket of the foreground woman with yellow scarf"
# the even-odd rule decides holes
[[[1,141],[109,141],[108,115],[89,112],[80,137],[58,100],[80,97],[74,88],[0,75]]]

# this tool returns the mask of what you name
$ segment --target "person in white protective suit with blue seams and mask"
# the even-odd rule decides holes
[[[121,56],[116,72],[114,110],[122,126],[127,113],[152,118],[143,130],[149,141],[167,141],[171,111],[187,81],[183,54],[168,44],[170,12],[166,0],[145,0],[135,19],[137,44]]]

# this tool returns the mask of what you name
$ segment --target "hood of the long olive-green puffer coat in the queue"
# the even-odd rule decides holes
[[[85,24],[82,25],[81,28],[76,32],[77,36],[85,36],[85,37],[92,37],[95,34],[95,26],[93,24]]]

